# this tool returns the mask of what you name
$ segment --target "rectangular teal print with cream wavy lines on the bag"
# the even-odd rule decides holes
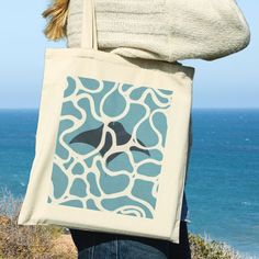
[[[154,218],[172,91],[67,77],[48,203]]]

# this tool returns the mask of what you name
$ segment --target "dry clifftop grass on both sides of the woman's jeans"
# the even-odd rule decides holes
[[[66,228],[19,226],[22,199],[7,189],[0,191],[0,259],[76,259],[77,250]],[[65,234],[66,233],[66,234]],[[224,243],[189,234],[193,259],[248,259]]]

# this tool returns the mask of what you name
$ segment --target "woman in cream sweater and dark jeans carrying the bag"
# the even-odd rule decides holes
[[[79,47],[82,4],[83,0],[55,0],[43,13],[49,19],[46,36],[66,36],[68,47]],[[234,0],[95,0],[94,4],[99,49],[125,57],[168,63],[214,60],[244,49],[250,40],[249,27]],[[189,156],[190,146],[191,135]],[[78,258],[188,259],[187,215],[184,194],[179,245],[77,229],[70,233]]]

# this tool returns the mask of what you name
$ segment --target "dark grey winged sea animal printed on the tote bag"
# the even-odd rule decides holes
[[[124,128],[122,123],[120,123],[120,122],[110,122],[108,124],[108,126],[110,128],[112,128],[114,131],[114,133],[115,133],[116,145],[119,145],[119,146],[124,145],[124,144],[126,144],[131,139],[132,135],[125,131],[125,128]],[[101,142],[102,134],[103,134],[103,124],[100,127],[98,127],[98,128],[86,131],[86,132],[82,132],[82,133],[78,134],[77,136],[75,136],[69,142],[69,144],[72,144],[72,143],[85,143],[85,144],[91,145],[91,146],[97,148],[99,146],[100,142]],[[145,144],[143,142],[140,142],[138,138],[137,139],[133,139],[133,142],[136,142],[136,140],[142,146],[146,147]],[[100,154],[102,155],[102,157],[111,148],[111,146],[112,146],[112,136],[111,136],[111,133],[108,132],[106,135],[105,135],[104,145],[103,145],[103,147],[100,150]],[[136,147],[136,146],[132,146],[130,148],[130,150],[142,151],[142,153],[145,153],[148,156],[150,156],[150,153],[148,150],[145,150],[145,149]],[[116,153],[110,155],[108,157],[108,159],[106,159],[106,162],[109,164],[111,160],[113,160],[120,154],[122,154],[122,151],[116,151]]]

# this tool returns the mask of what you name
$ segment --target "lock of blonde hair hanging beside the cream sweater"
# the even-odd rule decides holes
[[[42,13],[47,19],[44,34],[47,38],[57,41],[67,35],[67,14],[69,0],[53,0],[52,4]]]

